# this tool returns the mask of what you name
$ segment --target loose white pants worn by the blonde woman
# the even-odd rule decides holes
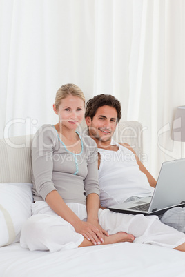
[[[75,214],[86,221],[86,206],[78,203],[67,203]],[[21,231],[21,247],[30,250],[50,250],[78,247],[84,240],[81,234],[75,232],[70,223],[58,216],[45,201],[32,204],[32,216],[23,225]],[[185,234],[164,225],[157,216],[139,214],[121,214],[110,212],[109,209],[99,209],[99,224],[110,235],[126,232],[135,236],[134,243],[149,243],[175,248],[185,242]]]

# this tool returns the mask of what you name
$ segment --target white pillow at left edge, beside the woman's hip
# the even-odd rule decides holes
[[[19,242],[32,201],[32,184],[0,183],[0,247]]]

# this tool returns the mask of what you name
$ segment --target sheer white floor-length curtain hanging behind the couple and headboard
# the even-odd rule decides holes
[[[179,158],[171,140],[185,105],[185,0],[0,0],[0,137],[55,123],[57,89],[113,94],[140,121],[144,164],[157,177]]]

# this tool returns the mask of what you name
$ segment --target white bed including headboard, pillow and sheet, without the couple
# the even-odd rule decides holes
[[[140,156],[141,131],[142,125],[135,121],[120,123],[115,139],[130,143]],[[30,183],[31,141],[32,136],[0,140],[0,244],[7,244],[0,247],[0,277],[185,276],[184,252],[153,245],[117,243],[55,253],[22,249],[20,229],[30,216],[32,202],[26,184]],[[21,187],[26,188],[22,196]]]

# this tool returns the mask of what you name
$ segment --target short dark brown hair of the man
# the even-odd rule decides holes
[[[90,119],[93,120],[97,109],[103,106],[114,107],[117,111],[117,122],[121,119],[121,104],[113,95],[110,94],[99,94],[94,96],[92,99],[89,99],[86,104],[85,117],[90,116]]]

